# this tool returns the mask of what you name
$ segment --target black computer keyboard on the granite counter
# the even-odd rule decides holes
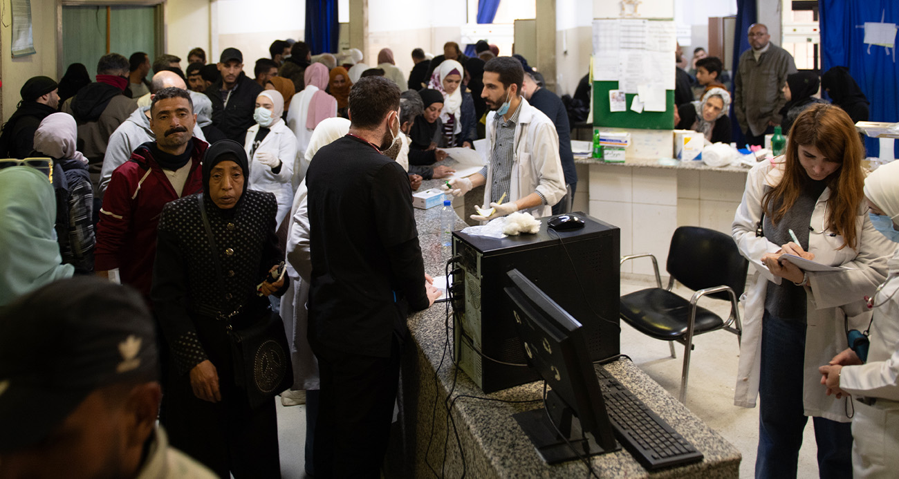
[[[604,368],[597,368],[602,396],[615,435],[646,469],[702,460],[702,453],[636,398]]]

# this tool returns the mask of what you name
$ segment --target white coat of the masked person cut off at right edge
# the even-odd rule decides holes
[[[899,275],[899,251],[889,261],[891,275]],[[895,477],[899,471],[899,277],[894,277],[874,298],[868,362],[846,366],[840,388],[854,398],[877,398],[872,405],[855,401],[852,418],[854,477]],[[860,330],[864,331],[864,330]],[[823,387],[823,386],[822,386]]]

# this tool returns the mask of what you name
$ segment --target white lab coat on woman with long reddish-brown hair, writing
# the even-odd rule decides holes
[[[780,156],[755,165],[746,178],[743,201],[734,216],[733,235],[740,253],[749,260],[759,261],[765,253],[775,253],[779,244],[755,235],[761,220],[761,197],[766,186],[775,186],[782,178]],[[814,204],[809,226],[809,252],[814,261],[832,266],[844,265],[851,271],[809,272],[810,287],[807,293],[806,357],[803,373],[803,406],[807,416],[820,416],[832,421],[848,422],[846,398],[836,399],[825,395],[821,386],[818,367],[827,364],[833,356],[847,347],[844,313],[849,317],[850,328],[868,324],[870,313],[864,297],[874,293],[877,285],[886,278],[886,261],[895,244],[886,239],[871,225],[865,208],[859,208],[856,220],[858,245],[856,249],[845,246],[841,235],[831,236],[830,228],[824,230],[826,203],[830,189],[824,189]],[[750,286],[743,296],[743,338],[740,347],[740,363],[737,372],[734,404],[755,407],[759,394],[761,369],[761,316],[765,308],[765,292],[768,280],[751,268]],[[787,280],[787,279],[785,279]]]

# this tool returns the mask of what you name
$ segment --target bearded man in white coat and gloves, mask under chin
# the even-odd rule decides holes
[[[565,196],[556,126],[521,96],[523,81],[515,58],[493,58],[484,66],[489,161],[479,173],[449,181],[454,196],[485,185],[484,208],[476,209],[482,214],[472,219],[488,221],[515,211],[546,217]]]

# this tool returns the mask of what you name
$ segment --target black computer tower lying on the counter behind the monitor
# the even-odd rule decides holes
[[[503,288],[506,272],[518,269],[574,319],[583,324],[592,360],[619,354],[620,231],[583,213],[583,228],[547,231],[539,218],[537,235],[503,239],[453,233],[454,354],[459,367],[485,393],[539,379],[536,370],[507,366],[482,357],[523,364],[512,306]],[[463,293],[464,291],[464,293]],[[481,352],[478,353],[477,350]]]

